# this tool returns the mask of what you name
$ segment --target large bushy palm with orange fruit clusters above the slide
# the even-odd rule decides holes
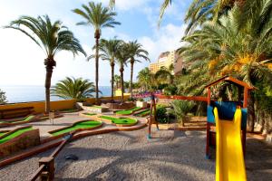
[[[243,8],[252,5],[248,0]],[[235,5],[228,15],[223,15],[219,23],[207,22],[183,38],[189,45],[182,48],[181,56],[189,62],[195,62],[199,75],[210,81],[213,77],[232,75],[240,80],[256,85],[258,81],[272,81],[272,71],[267,62],[271,62],[272,19],[268,9],[271,0],[258,1],[259,5],[251,8],[250,18],[245,11]],[[242,24],[243,26],[239,26]],[[201,61],[199,61],[201,60]],[[203,79],[202,79],[203,81]],[[248,115],[251,129],[254,129],[254,96],[248,100]]]

